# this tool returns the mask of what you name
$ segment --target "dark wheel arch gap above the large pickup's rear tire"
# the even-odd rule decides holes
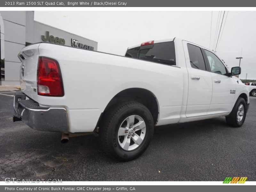
[[[157,123],[159,118],[159,104],[157,98],[151,91],[143,88],[128,88],[120,91],[108,102],[103,114],[116,103],[128,100],[136,101],[145,105],[151,112],[154,123]]]

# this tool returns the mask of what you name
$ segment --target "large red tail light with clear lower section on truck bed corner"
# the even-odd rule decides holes
[[[56,60],[39,57],[37,67],[37,94],[57,97],[64,95],[60,66]]]

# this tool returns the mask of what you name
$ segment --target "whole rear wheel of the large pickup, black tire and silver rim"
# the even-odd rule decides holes
[[[119,161],[130,161],[148,148],[153,132],[154,121],[148,108],[135,101],[125,101],[109,108],[103,115],[99,136],[108,156]]]

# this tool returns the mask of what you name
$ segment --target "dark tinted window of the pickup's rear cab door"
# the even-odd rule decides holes
[[[192,68],[206,70],[203,53],[200,47],[188,44],[188,54]]]

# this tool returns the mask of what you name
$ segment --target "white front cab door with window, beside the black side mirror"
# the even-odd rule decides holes
[[[207,114],[227,113],[231,110],[235,100],[237,82],[227,76],[228,70],[213,52],[208,50],[204,52],[212,76],[212,101]]]

